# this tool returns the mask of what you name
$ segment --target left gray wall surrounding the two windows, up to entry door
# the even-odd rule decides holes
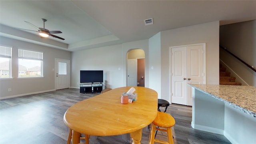
[[[12,79],[0,80],[0,98],[24,96],[55,90],[55,58],[71,60],[71,52],[0,37],[2,45],[12,46]],[[18,79],[18,48],[44,52],[44,77]],[[12,88],[8,92],[8,88]]]

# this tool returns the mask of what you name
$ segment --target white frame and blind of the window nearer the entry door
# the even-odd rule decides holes
[[[40,60],[41,61],[41,76],[20,77],[20,75],[19,75],[20,68],[18,68],[18,78],[42,78],[42,77],[44,77],[43,55],[44,55],[43,52],[19,48],[18,49],[18,59]],[[20,64],[18,64],[18,65],[20,65]]]

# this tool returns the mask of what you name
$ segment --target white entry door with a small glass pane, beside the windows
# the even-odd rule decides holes
[[[56,90],[70,88],[70,61],[55,59]]]

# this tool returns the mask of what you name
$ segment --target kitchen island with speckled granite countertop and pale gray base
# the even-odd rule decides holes
[[[222,134],[233,144],[256,144],[256,87],[188,84],[193,128]]]

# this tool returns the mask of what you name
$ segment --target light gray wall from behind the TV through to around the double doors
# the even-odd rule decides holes
[[[206,43],[206,83],[219,84],[219,22],[159,32],[149,40],[72,52],[72,83],[79,87],[80,70],[104,70],[106,87],[126,86],[127,52],[145,52],[145,87],[170,101],[170,46]],[[151,68],[153,66],[153,69]],[[121,70],[118,70],[118,68]]]

